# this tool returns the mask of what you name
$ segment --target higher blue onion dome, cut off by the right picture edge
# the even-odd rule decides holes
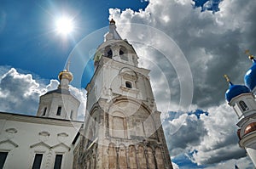
[[[244,76],[244,83],[250,90],[253,90],[253,88],[256,87],[256,63],[254,59],[253,66],[247,70],[247,73]]]

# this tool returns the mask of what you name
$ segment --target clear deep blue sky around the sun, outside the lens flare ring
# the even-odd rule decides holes
[[[1,1],[0,65],[56,78],[74,46],[90,32],[108,26],[108,8],[138,10],[147,5],[140,0]],[[66,38],[54,30],[61,14],[73,17],[76,26]]]

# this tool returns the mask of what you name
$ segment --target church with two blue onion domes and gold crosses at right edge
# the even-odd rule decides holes
[[[248,54],[248,51],[246,53]],[[253,65],[244,76],[245,85],[234,85],[225,75],[230,83],[225,97],[239,119],[236,124],[239,127],[237,130],[239,145],[246,149],[247,155],[256,166],[256,60],[252,54],[249,54],[249,59],[253,61]]]

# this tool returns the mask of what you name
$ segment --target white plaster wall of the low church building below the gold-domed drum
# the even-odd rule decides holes
[[[56,154],[63,155],[61,168],[72,168],[72,142],[82,122],[2,113],[0,119],[0,151],[9,152],[3,168],[32,168],[36,153],[44,154],[41,168],[53,168]]]

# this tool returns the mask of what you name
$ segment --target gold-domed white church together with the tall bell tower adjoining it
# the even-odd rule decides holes
[[[149,70],[138,67],[114,20],[104,38],[84,121],[76,121],[79,100],[68,90],[67,66],[59,87],[40,97],[36,116],[0,113],[0,168],[172,169]]]

